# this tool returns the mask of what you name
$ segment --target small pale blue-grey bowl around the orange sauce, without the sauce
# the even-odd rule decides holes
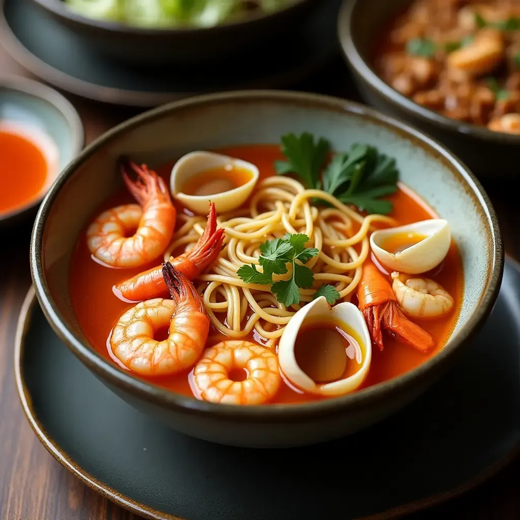
[[[0,228],[11,226],[32,213],[59,172],[83,148],[83,125],[74,107],[56,90],[18,76],[0,76],[0,126],[24,127],[36,140],[51,141],[52,171],[41,195],[15,210],[1,213]],[[55,157],[57,155],[57,157]],[[8,174],[3,172],[3,174]]]

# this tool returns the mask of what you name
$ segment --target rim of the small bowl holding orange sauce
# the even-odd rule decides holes
[[[27,96],[43,100],[52,105],[58,112],[63,115],[71,131],[71,157],[74,159],[79,154],[85,143],[85,132],[80,115],[73,107],[72,103],[62,96],[57,90],[35,80],[30,80],[24,76],[15,76],[12,74],[0,74],[0,90],[7,89],[14,92],[20,92]],[[56,147],[59,149],[58,144]],[[61,150],[60,150],[61,152]],[[56,179],[60,176],[60,171],[56,172]],[[53,181],[53,183],[54,183]],[[33,209],[44,199],[50,187],[43,190],[35,199],[16,207],[6,213],[0,212],[0,223],[12,217],[21,215],[22,213]]]

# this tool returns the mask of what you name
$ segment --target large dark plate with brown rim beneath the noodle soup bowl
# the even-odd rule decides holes
[[[69,471],[148,518],[392,518],[468,489],[520,447],[520,266],[457,366],[392,418],[332,443],[252,450],[175,433],[112,394],[31,292],[15,354],[27,417]]]

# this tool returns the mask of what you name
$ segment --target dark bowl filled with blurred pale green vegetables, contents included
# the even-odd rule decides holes
[[[244,57],[277,40],[283,45],[283,38],[290,38],[314,16],[319,4],[317,0],[278,0],[265,2],[265,7],[264,2],[236,0],[154,2],[135,9],[125,0],[101,2],[96,9],[86,2],[33,2],[102,54],[130,64],[193,63],[194,67]],[[239,9],[240,5],[256,9]],[[229,12],[233,9],[239,12]]]

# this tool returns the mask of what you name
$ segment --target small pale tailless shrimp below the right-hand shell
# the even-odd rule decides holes
[[[393,272],[392,279],[395,297],[408,316],[436,318],[453,308],[453,298],[448,291],[429,278],[410,278]]]

